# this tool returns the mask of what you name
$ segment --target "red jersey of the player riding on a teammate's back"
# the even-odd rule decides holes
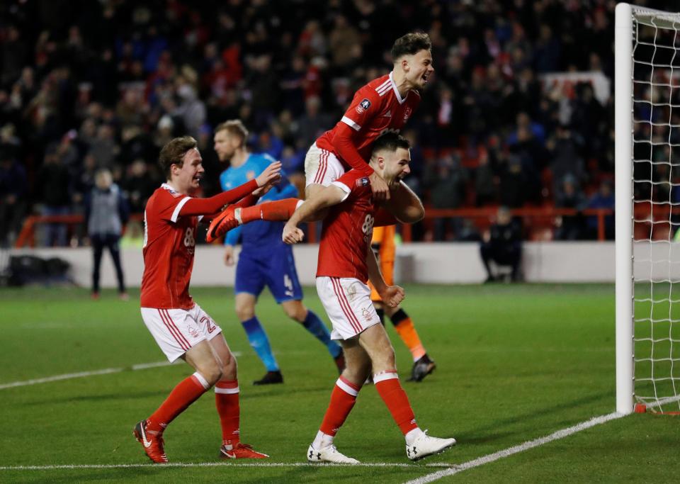
[[[337,126],[344,123],[358,132],[353,138],[356,150],[368,163],[375,138],[387,130],[397,132],[401,130],[419,103],[418,91],[409,91],[404,99],[399,96],[392,72],[378,77],[356,91],[345,115],[333,129],[317,139],[317,147],[332,152],[346,169],[350,168],[347,162],[338,156],[331,142]]]

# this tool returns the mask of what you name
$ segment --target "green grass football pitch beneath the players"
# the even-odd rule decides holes
[[[1,290],[0,385],[126,369],[0,389],[0,482],[402,483],[442,469],[432,464],[465,463],[615,410],[613,286],[406,289],[404,309],[438,368],[422,383],[407,382],[410,355],[388,323],[402,384],[421,427],[456,437],[455,448],[408,461],[399,429],[375,389],[366,387],[336,444],[364,463],[387,465],[305,465],[337,376],[327,351],[266,294],[258,315],[285,383],[254,387],[264,370],[234,317],[232,291],[195,288],[197,302],[240,354],[242,440],[270,454],[270,463],[285,465],[221,463],[208,393],[171,424],[166,451],[174,463],[217,466],[130,468],[108,466],[149,462],[132,426],[191,373],[186,364],[132,371],[134,364],[164,360],[142,322],[138,295],[126,303],[107,291],[92,301],[84,289]],[[305,294],[325,318],[314,290]],[[679,437],[680,417],[630,415],[438,482],[674,482]],[[77,467],[85,464],[103,467]],[[55,465],[74,467],[43,468]]]

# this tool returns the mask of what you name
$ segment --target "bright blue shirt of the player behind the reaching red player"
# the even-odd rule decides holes
[[[246,162],[240,167],[229,167],[220,174],[220,186],[223,191],[231,190],[239,185],[254,179],[262,173],[266,167],[276,160],[268,154],[249,154]],[[271,188],[262,198],[262,201],[283,200],[283,198],[297,198],[297,188],[290,183],[288,177],[281,172],[282,179],[279,184]],[[285,245],[281,240],[285,222],[267,222],[257,220],[241,227],[229,230],[225,237],[225,245],[236,245],[239,239],[243,250],[271,250],[277,246]]]

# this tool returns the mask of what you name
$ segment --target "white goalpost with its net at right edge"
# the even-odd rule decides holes
[[[616,411],[676,413],[680,13],[618,4],[615,50]]]

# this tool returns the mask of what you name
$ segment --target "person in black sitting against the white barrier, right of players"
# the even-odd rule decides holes
[[[511,266],[510,274],[512,281],[519,281],[519,264],[522,259],[522,235],[519,223],[512,219],[510,210],[504,206],[499,207],[496,222],[485,232],[480,254],[482,263],[487,271],[486,282],[497,280],[491,268],[491,262],[497,266]]]

